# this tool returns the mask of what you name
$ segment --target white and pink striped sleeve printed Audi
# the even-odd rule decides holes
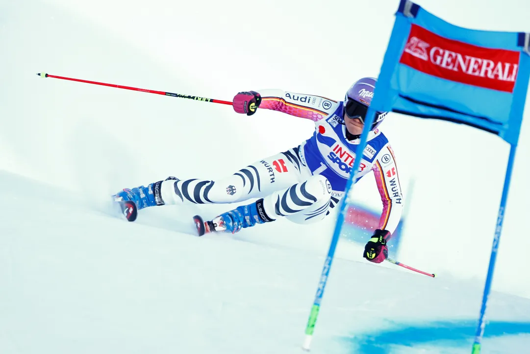
[[[291,116],[320,120],[333,113],[339,102],[329,98],[287,92],[277,89],[258,91],[261,95],[260,109],[272,109]]]

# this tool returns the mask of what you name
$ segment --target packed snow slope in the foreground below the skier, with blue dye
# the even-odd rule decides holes
[[[7,172],[0,183],[0,352],[302,352],[325,252],[196,237],[176,207],[129,223],[103,200]],[[481,291],[338,257],[312,351],[469,353]],[[529,314],[528,299],[493,292],[483,353],[527,348]]]

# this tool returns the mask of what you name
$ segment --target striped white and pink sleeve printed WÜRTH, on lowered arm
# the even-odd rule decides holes
[[[378,228],[388,230],[393,234],[403,212],[403,193],[394,151],[389,144],[378,152],[372,170],[383,202],[383,212]]]

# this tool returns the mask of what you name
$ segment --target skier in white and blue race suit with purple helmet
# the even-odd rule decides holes
[[[373,77],[359,79],[348,89],[344,101],[277,89],[239,92],[233,99],[237,113],[251,116],[258,107],[277,110],[314,120],[315,133],[295,148],[258,160],[220,180],[168,177],[147,187],[125,188],[114,198],[134,201],[137,209],[183,203],[237,203],[260,198],[211,221],[203,222],[197,217],[199,235],[213,231],[234,233],[279,217],[296,223],[320,221],[343,197],[376,82]],[[368,261],[375,263],[387,257],[386,243],[398,226],[403,206],[394,152],[377,128],[386,114],[377,112],[370,127],[357,179],[372,170],[383,202],[379,226],[363,253]]]

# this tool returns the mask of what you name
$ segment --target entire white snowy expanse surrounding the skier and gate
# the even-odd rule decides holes
[[[422,5],[450,19],[452,7],[444,4]],[[215,216],[226,205],[152,208],[127,223],[112,214],[108,195],[170,175],[231,174],[295,146],[312,123],[266,111],[246,118],[222,105],[35,75],[225,100],[265,87],[340,99],[354,77],[377,72],[397,2],[363,4],[367,15],[359,21],[383,12],[388,18],[374,31],[381,41],[371,44],[372,60],[351,48],[333,60],[319,50],[303,55],[308,45],[343,44],[346,11],[325,34],[304,20],[322,10],[319,4],[270,2],[245,17],[248,6],[0,2],[0,353],[302,352],[333,220],[316,226],[279,220],[198,238],[191,216]],[[485,22],[475,27],[499,25],[491,11],[477,15]],[[260,38],[255,51],[252,36]],[[280,41],[290,47],[281,49]],[[351,67],[352,58],[367,72]],[[403,161],[402,184],[414,179],[416,185],[398,260],[439,277],[371,264],[358,245],[342,239],[312,352],[471,352],[504,178],[505,165],[490,169],[489,163],[505,159],[507,149],[466,127],[399,119],[387,119],[383,128]],[[456,150],[434,133],[449,127],[461,139]],[[477,141],[487,144],[482,154],[462,151]],[[530,243],[520,230],[528,174],[519,161],[527,150],[522,140],[483,353],[530,347],[524,256]],[[460,159],[452,159],[456,154]],[[463,171],[458,178],[450,166]],[[477,176],[478,168],[488,178]],[[445,187],[433,195],[428,182]],[[377,204],[372,181],[357,189],[360,200]]]

